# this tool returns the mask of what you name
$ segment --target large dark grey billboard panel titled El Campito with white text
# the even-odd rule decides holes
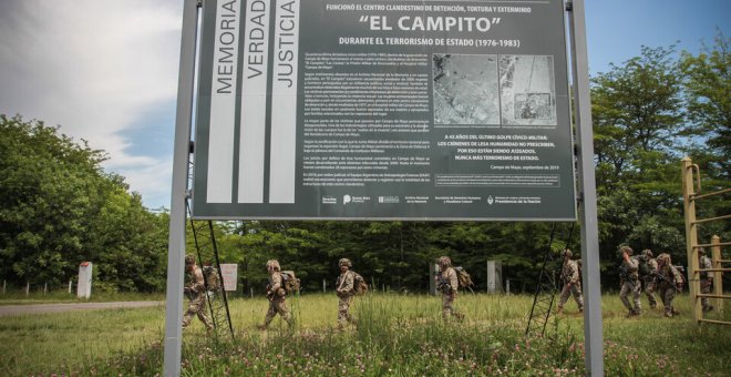
[[[563,1],[204,4],[194,217],[576,218]]]

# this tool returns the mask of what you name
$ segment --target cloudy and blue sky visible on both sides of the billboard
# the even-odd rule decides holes
[[[106,151],[104,169],[145,206],[169,208],[182,2],[0,0],[0,113]],[[717,29],[731,35],[731,0],[586,0],[585,9],[590,74],[641,45],[696,54]]]

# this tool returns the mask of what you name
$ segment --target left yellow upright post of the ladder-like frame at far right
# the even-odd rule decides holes
[[[686,217],[686,252],[688,255],[688,291],[690,291],[690,303],[692,305],[693,320],[701,319],[701,303],[698,271],[698,225],[696,224],[696,201],[691,197],[696,194],[693,187],[693,163],[690,157],[682,159],[682,198],[683,213]]]

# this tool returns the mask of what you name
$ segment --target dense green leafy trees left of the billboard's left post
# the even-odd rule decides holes
[[[165,224],[103,172],[102,151],[20,116],[0,115],[0,273],[9,282],[58,286],[92,261],[100,287],[164,286]]]

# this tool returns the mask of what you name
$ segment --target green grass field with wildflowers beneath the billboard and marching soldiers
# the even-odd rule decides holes
[[[264,298],[230,302],[236,340],[215,344],[195,320],[184,333],[183,374],[210,375],[583,375],[583,317],[569,302],[552,319],[553,339],[524,337],[529,296],[462,295],[464,323],[441,320],[441,299],[371,294],[353,307],[358,328],[334,329],[334,295],[288,299],[294,332],[279,319],[261,333]],[[644,302],[646,303],[646,302]],[[728,376],[731,326],[696,325],[682,315],[624,318],[618,296],[603,297],[608,376]],[[725,319],[731,319],[729,310]],[[155,375],[162,370],[164,307],[3,317],[0,375]]]

